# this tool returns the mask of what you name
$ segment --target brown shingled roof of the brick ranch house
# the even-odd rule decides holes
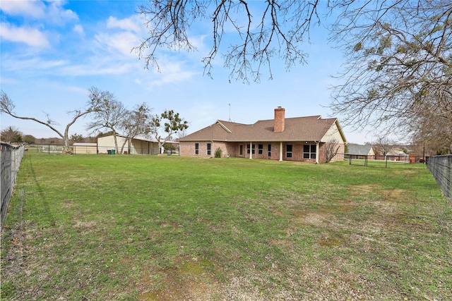
[[[333,125],[337,125],[345,142],[338,120],[323,119],[321,116],[285,118],[285,129],[279,133],[273,131],[273,119],[257,121],[254,124],[216,121],[213,125],[180,138],[179,141],[321,141]]]

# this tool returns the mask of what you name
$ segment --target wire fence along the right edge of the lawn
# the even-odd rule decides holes
[[[427,157],[427,167],[444,195],[452,204],[452,154]]]

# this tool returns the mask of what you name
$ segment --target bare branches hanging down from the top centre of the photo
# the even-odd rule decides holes
[[[328,2],[324,2],[328,6]],[[320,1],[164,1],[151,0],[138,6],[145,16],[149,35],[132,50],[145,60],[145,67],[160,70],[157,53],[162,49],[194,51],[189,27],[197,20],[212,21],[212,47],[203,58],[205,74],[212,76],[213,60],[222,49],[225,34],[229,49],[223,55],[230,78],[249,82],[261,80],[263,66],[272,78],[270,61],[279,57],[286,68],[306,63],[303,42],[309,42],[309,29],[320,23]],[[257,20],[257,22],[256,22]],[[256,24],[256,25],[255,25]],[[226,31],[232,28],[234,32]],[[232,39],[230,36],[234,35]]]

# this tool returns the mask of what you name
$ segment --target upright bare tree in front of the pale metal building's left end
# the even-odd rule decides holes
[[[116,99],[109,91],[100,91],[93,87],[90,89],[91,95],[97,99],[102,99],[102,109],[97,110],[93,116],[93,121],[86,125],[87,130],[96,133],[102,129],[111,130],[114,139],[114,149],[118,153],[117,130],[126,117],[126,107]]]

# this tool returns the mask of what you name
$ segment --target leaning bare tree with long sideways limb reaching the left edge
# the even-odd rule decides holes
[[[16,113],[14,113],[14,109],[16,106],[13,103],[13,101],[8,97],[8,94],[6,94],[3,91],[1,91],[0,97],[0,113],[6,113],[13,118],[35,121],[37,123],[47,126],[47,128],[53,130],[55,133],[57,133],[57,135],[59,135],[59,137],[61,137],[64,140],[64,153],[70,154],[71,149],[69,147],[69,128],[71,128],[71,125],[76,123],[78,118],[86,116],[89,113],[99,111],[102,108],[102,105],[104,104],[104,99],[99,98],[97,97],[97,95],[93,94],[93,88],[90,89],[90,94],[88,98],[89,98],[88,102],[86,103],[83,109],[78,109],[69,112],[72,116],[72,120],[71,122],[68,123],[68,125],[66,125],[66,128],[64,129],[64,134],[57,130],[57,128],[55,128],[56,123],[52,121],[48,114],[46,114],[47,120],[41,121],[40,119],[34,117],[19,116]]]

